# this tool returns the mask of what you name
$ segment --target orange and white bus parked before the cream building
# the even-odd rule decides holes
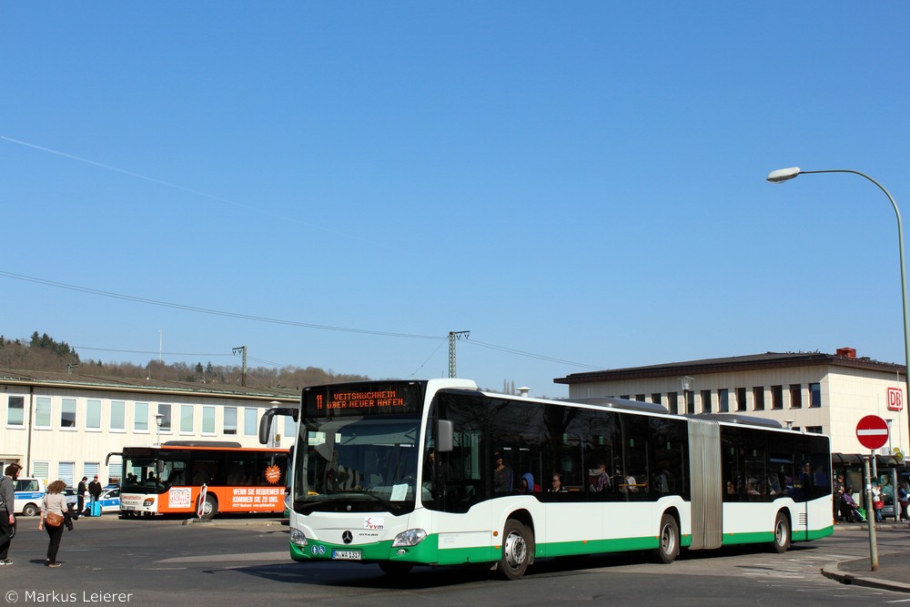
[[[218,512],[283,512],[287,449],[245,449],[238,442],[171,440],[160,447],[126,447],[120,515],[187,513],[196,516],[206,485],[202,518]]]

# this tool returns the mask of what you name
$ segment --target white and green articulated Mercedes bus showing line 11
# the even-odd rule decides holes
[[[290,557],[414,565],[766,544],[834,532],[827,437],[614,398],[538,400],[464,379],[303,390]],[[772,427],[773,426],[773,427]],[[556,481],[561,481],[557,483]],[[557,491],[554,491],[557,490]]]

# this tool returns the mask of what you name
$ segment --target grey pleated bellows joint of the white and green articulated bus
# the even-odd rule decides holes
[[[692,550],[720,548],[723,539],[721,433],[716,421],[689,420]]]

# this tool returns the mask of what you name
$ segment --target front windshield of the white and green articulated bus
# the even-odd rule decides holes
[[[352,416],[301,425],[294,474],[294,509],[414,509],[418,415]]]

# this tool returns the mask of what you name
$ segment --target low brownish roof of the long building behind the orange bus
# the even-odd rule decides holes
[[[0,369],[0,384],[7,386],[44,386],[48,388],[95,389],[117,392],[138,392],[175,396],[193,394],[215,398],[245,400],[298,401],[296,388],[271,388],[232,386],[229,384],[197,383],[193,381],[166,381],[162,379],[122,378],[55,371],[29,371]]]

